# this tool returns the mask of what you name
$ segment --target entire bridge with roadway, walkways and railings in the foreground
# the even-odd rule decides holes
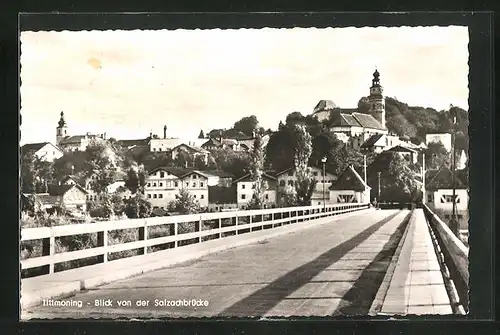
[[[191,227],[188,229],[186,227]],[[162,234],[152,234],[164,229]],[[138,239],[114,243],[113,232]],[[56,252],[96,234],[97,246]],[[431,210],[336,204],[22,229],[21,318],[464,314],[468,248]],[[153,246],[163,246],[151,249]],[[139,255],[113,255],[139,250]],[[59,265],[94,257],[93,265]]]

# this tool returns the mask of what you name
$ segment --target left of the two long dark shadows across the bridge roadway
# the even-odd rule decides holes
[[[290,271],[284,276],[273,281],[268,286],[254,292],[245,299],[238,301],[225,309],[218,316],[249,317],[265,315],[280,301],[311,281],[320,272],[337,262],[349,251],[356,248],[359,244],[365,241],[398,214],[399,211],[371,225],[361,233],[328,250],[311,262]]]

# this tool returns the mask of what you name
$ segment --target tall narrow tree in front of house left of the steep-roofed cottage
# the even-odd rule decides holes
[[[301,206],[308,206],[311,204],[311,197],[317,183],[308,167],[309,157],[312,153],[311,135],[305,126],[295,125],[295,138],[297,140],[295,149],[297,203]]]

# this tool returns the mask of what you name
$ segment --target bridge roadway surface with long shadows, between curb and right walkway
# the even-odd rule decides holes
[[[38,305],[25,318],[367,315],[403,235],[409,210],[365,210]],[[112,307],[96,307],[110,299]],[[208,306],[155,306],[201,299]],[[119,307],[130,300],[130,307]],[[149,301],[149,306],[136,306]]]

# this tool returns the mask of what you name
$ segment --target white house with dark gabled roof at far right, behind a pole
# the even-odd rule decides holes
[[[469,226],[469,182],[466,170],[455,173],[456,219],[461,230]],[[453,176],[446,165],[425,174],[424,201],[445,223],[452,219],[453,213]]]

